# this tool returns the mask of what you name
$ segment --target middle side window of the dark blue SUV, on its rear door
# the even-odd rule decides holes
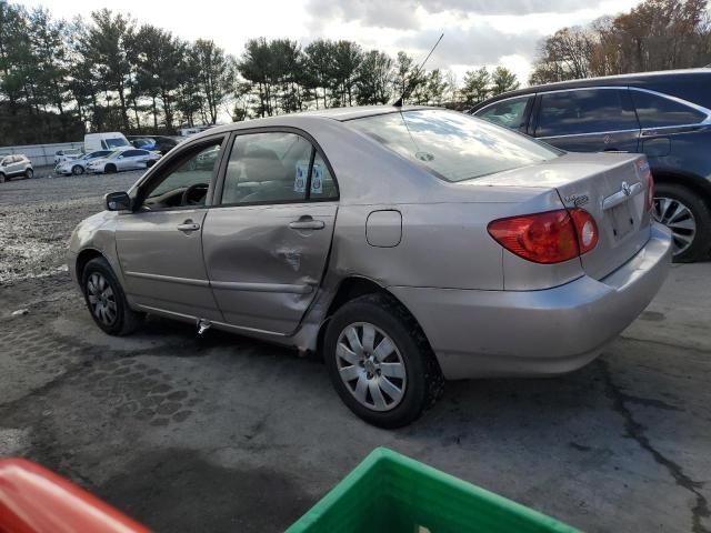
[[[587,89],[542,94],[535,137],[638,128],[627,89]]]

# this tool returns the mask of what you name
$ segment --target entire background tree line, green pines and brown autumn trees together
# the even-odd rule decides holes
[[[711,63],[707,0],[644,0],[629,13],[542,40],[529,82]],[[56,19],[0,0],[0,144],[73,141],[87,131],[180,127],[294,111],[408,103],[464,109],[519,87],[497,67],[420,70],[348,40],[251,39],[239,56],[103,9]]]

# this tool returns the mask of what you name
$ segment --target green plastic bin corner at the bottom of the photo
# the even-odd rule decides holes
[[[579,531],[391,450],[378,447],[287,533]]]

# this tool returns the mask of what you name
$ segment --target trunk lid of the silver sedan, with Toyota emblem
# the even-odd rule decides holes
[[[585,274],[600,280],[630,260],[649,240],[649,163],[640,154],[568,153],[534,167],[472,180],[477,185],[554,188],[567,208],[595,220],[598,245],[581,255]]]

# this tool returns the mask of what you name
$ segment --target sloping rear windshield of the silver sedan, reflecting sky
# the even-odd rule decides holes
[[[356,119],[347,124],[447,181],[480,178],[563,153],[454,111],[403,111]]]

